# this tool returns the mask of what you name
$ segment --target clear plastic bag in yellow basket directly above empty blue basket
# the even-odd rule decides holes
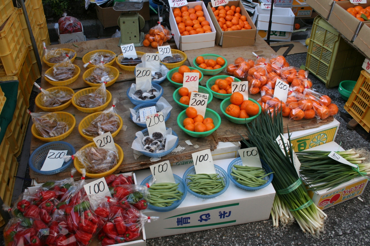
[[[57,120],[55,113],[30,113],[36,129],[43,137],[56,137],[68,131],[68,124]]]

